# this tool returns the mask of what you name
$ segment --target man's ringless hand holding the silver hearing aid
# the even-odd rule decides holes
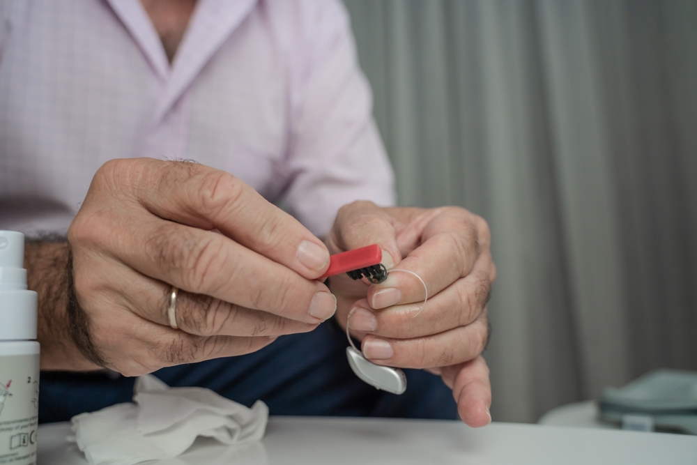
[[[390,273],[367,288],[346,275],[330,278],[337,319],[362,340],[366,358],[378,365],[423,368],[440,374],[470,426],[491,421],[487,300],[496,279],[487,222],[463,208],[378,208],[370,202],[344,206],[327,239],[332,254],[370,244],[383,250]],[[367,289],[367,291],[366,291]],[[350,317],[349,317],[350,315]]]

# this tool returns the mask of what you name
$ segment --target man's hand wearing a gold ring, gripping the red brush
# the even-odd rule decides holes
[[[72,325],[63,344],[81,359],[46,354],[43,369],[103,366],[136,376],[236,356],[312,330],[336,310],[314,281],[329,264],[322,241],[238,178],[204,165],[107,162],[68,243],[77,305],[63,315]],[[180,289],[178,330],[167,316],[171,286]]]

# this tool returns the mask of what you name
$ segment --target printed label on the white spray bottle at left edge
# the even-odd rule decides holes
[[[0,356],[0,465],[36,464],[39,356]]]

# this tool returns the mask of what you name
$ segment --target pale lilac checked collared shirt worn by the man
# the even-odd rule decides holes
[[[67,229],[139,156],[229,171],[319,236],[395,201],[340,1],[200,0],[170,66],[139,0],[0,0],[0,229]]]

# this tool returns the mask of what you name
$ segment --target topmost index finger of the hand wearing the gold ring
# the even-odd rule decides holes
[[[160,218],[225,236],[308,279],[329,265],[329,252],[298,220],[235,176],[192,162],[116,160],[139,179],[135,197]],[[117,173],[118,174],[118,173]]]

